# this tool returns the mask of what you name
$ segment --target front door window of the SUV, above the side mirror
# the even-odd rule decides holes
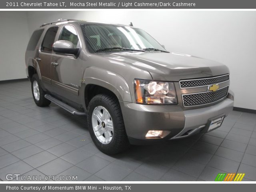
[[[78,36],[74,26],[71,26],[71,25],[64,26],[60,34],[59,40],[70,41],[74,44],[75,48],[79,48]]]

